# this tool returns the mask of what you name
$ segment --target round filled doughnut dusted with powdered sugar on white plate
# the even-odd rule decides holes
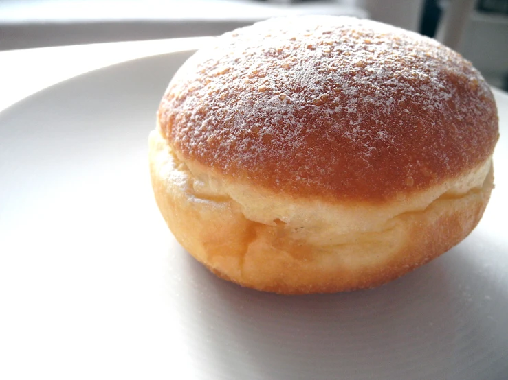
[[[234,283],[371,288],[446,252],[493,188],[498,117],[480,73],[430,38],[349,17],[220,36],[171,80],[150,136],[155,199]]]

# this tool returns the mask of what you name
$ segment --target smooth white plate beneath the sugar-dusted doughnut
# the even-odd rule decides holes
[[[210,274],[155,206],[148,132],[187,56],[87,73],[0,114],[0,378],[507,379],[508,96],[470,237],[375,290],[276,296]]]

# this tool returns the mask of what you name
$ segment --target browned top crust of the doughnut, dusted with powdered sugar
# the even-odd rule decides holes
[[[170,82],[159,128],[184,159],[295,197],[377,202],[460,177],[498,139],[492,92],[437,41],[300,16],[220,36]]]

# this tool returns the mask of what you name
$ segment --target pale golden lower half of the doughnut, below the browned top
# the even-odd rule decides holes
[[[214,191],[210,185],[203,191],[204,178],[208,177],[207,182],[223,178],[195,176],[158,131],[152,132],[150,140],[155,199],[180,244],[229,281],[281,294],[370,288],[410,272],[471,232],[493,187],[488,161],[474,176],[457,178],[462,186],[454,187],[449,181],[404,202],[358,208],[356,204],[276,197],[272,202],[278,213],[293,217],[287,222],[268,222],[274,214],[263,191],[247,184],[239,191],[232,185],[233,194],[247,194],[243,198],[250,204],[247,218],[245,206],[232,198],[225,190],[228,187]],[[260,199],[268,206],[256,204]],[[315,217],[309,220],[307,215]],[[348,215],[356,219],[349,220]],[[343,226],[351,221],[356,228],[365,229],[344,232],[335,228],[338,221]]]

